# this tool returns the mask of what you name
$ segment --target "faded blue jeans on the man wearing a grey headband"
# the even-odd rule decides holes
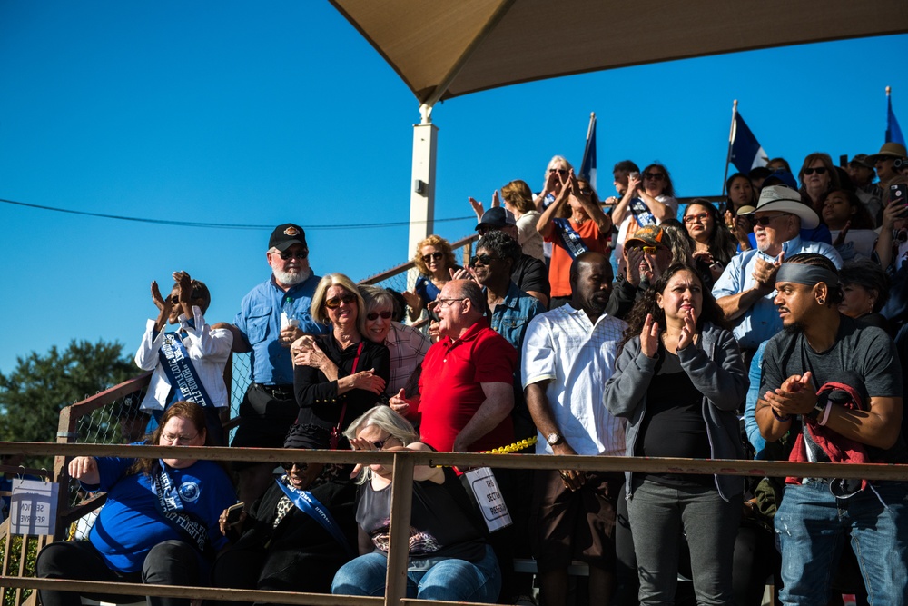
[[[906,499],[908,482],[878,482],[848,499],[836,499],[825,482],[785,486],[775,514],[785,584],[781,601],[826,604],[844,541],[851,535],[868,603],[908,603]]]

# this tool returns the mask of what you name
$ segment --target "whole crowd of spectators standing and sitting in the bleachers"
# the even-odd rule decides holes
[[[207,323],[187,273],[166,298],[152,283],[135,357],[153,370],[150,443],[222,441],[224,363],[248,352],[231,445],[291,462],[234,463],[232,485],[210,462],[78,457],[70,473],[107,503],[38,574],[383,595],[393,470],[301,449],[908,462],[905,155],[814,153],[796,175],[775,158],[686,204],[663,164],[618,162],[603,199],[555,156],[538,193],[469,198],[466,267],[444,238],[420,242],[403,293],[315,275],[298,224],[274,229],[271,276],[232,323]],[[749,606],[767,576],[785,604],[908,603],[908,482],[429,466],[413,481],[411,598],[534,601],[513,564],[533,556],[545,606],[567,603],[572,561],[596,604]]]

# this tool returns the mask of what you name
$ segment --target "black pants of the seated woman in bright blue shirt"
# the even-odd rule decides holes
[[[163,541],[148,552],[142,571],[117,572],[107,567],[101,554],[89,541],[61,541],[44,547],[35,562],[41,579],[74,581],[134,582],[153,585],[199,585],[199,552],[183,541]],[[39,591],[44,606],[80,606],[74,591]],[[130,602],[137,596],[85,594],[97,601]],[[148,596],[148,606],[189,606],[188,598]]]

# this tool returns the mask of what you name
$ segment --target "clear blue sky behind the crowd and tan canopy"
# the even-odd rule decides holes
[[[908,35],[707,57],[522,84],[436,107],[437,218],[512,179],[579,164],[598,117],[611,164],[665,163],[718,194],[732,101],[771,155],[874,153],[886,85],[908,125]],[[220,224],[296,222],[317,273],[360,279],[410,256],[415,97],[326,2],[0,0],[0,198]],[[268,231],[173,227],[0,204],[0,372],[72,339],[132,354],[148,285],[183,269],[229,321],[269,274]],[[439,224],[450,239],[474,222]]]

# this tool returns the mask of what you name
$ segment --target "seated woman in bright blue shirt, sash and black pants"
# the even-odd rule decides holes
[[[154,431],[160,446],[203,446],[205,414],[174,402]],[[85,490],[107,492],[89,541],[54,542],[38,554],[44,579],[205,585],[214,552],[227,544],[219,517],[236,502],[220,465],[196,459],[76,457],[70,477]],[[40,591],[44,606],[79,606],[78,593]],[[135,601],[134,596],[94,596]],[[188,598],[148,596],[150,606],[189,606]]]

